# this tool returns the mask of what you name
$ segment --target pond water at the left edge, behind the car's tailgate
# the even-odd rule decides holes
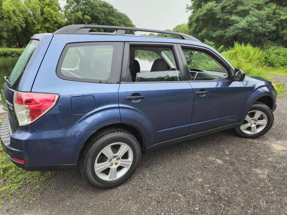
[[[0,57],[0,113],[7,112],[7,105],[4,97],[3,84],[4,76],[10,76],[19,57]]]

